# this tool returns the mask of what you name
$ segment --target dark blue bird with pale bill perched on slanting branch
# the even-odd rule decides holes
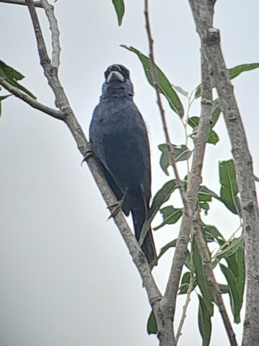
[[[116,198],[123,198],[125,215],[131,211],[139,240],[151,197],[147,129],[133,102],[133,85],[126,67],[109,66],[104,76],[102,95],[89,129],[91,148]],[[151,229],[141,248],[148,263],[156,258]]]

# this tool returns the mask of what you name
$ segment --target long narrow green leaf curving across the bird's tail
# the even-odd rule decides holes
[[[140,233],[140,240],[138,243],[140,246],[143,244],[143,241],[147,235],[148,230],[150,229],[150,224],[154,219],[156,213],[161,208],[162,204],[167,202],[171,196],[171,193],[178,187],[178,183],[175,179],[167,181],[160,190],[155,194],[151,207],[147,211],[147,219],[144,221],[142,230]]]

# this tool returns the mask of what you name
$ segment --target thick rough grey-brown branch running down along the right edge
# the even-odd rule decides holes
[[[224,63],[220,48],[219,30],[206,25],[208,16],[213,15],[213,2],[207,0],[189,0],[196,22],[197,31],[204,42],[204,54],[209,61],[210,75],[216,86],[220,107],[223,111],[240,191],[241,215],[243,218],[243,235],[246,247],[246,316],[243,325],[242,346],[258,346],[259,344],[259,215],[252,158],[249,152],[246,134],[240,112],[233,93],[229,73]]]

